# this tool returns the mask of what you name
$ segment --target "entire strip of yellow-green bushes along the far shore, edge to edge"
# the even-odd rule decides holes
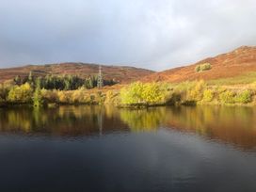
[[[28,82],[22,85],[2,84],[0,105],[33,104],[113,104],[122,107],[154,105],[255,105],[256,83],[224,84],[226,80],[192,81],[180,84],[141,83],[104,88],[46,89]]]

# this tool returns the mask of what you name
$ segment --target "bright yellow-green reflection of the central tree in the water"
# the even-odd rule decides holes
[[[166,107],[149,109],[121,109],[120,119],[126,122],[133,132],[155,131],[166,120]]]

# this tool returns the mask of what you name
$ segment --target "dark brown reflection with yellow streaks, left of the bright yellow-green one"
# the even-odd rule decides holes
[[[100,106],[60,106],[57,108],[17,107],[0,110],[0,131],[48,133],[60,136],[99,135],[116,127],[127,129],[120,120],[109,119]]]

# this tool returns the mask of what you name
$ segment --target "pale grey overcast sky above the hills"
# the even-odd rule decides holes
[[[0,0],[0,68],[80,61],[156,71],[256,45],[255,0]]]

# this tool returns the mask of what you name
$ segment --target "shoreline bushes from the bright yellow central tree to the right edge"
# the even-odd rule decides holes
[[[204,81],[181,84],[135,83],[120,91],[123,105],[255,105],[256,83],[244,86],[219,86]]]

